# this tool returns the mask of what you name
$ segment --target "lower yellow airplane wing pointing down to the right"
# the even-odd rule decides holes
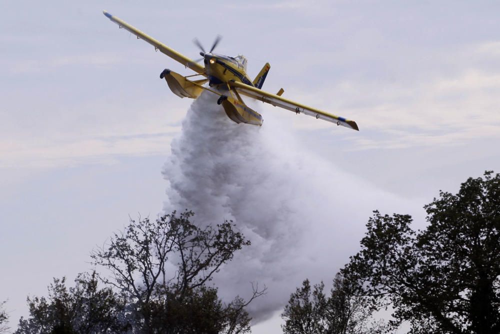
[[[287,110],[293,111],[297,114],[304,113],[306,115],[313,116],[316,119],[322,119],[322,120],[325,120],[328,122],[335,123],[336,125],[342,125],[342,126],[345,126],[349,129],[359,131],[359,128],[357,127],[356,122],[354,122],[352,120],[348,120],[348,119],[345,119],[345,118],[340,117],[340,116],[332,115],[332,114],[329,114],[329,113],[324,112],[324,111],[319,110],[319,109],[308,107],[306,105],[282,98],[279,95],[271,94],[271,93],[268,93],[268,92],[263,91],[261,89],[248,86],[248,85],[241,83],[241,82],[236,82],[236,81],[231,80],[228,82],[228,84],[229,84],[229,86],[236,89],[236,91],[241,95],[252,97],[258,101],[269,103],[275,107],[287,109]]]

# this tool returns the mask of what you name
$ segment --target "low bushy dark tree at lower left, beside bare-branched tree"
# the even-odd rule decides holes
[[[15,334],[127,333],[125,305],[110,288],[98,289],[97,276],[79,274],[75,287],[65,278],[48,287],[48,298],[27,298],[29,318],[21,317]]]

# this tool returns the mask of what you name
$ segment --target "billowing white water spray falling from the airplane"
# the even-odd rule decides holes
[[[250,282],[265,285],[249,309],[258,322],[305,278],[330,282],[357,250],[371,210],[398,200],[309,154],[280,127],[286,111],[262,112],[262,127],[236,124],[216,99],[201,94],[172,141],[164,210],[192,210],[201,224],[233,220],[251,240],[214,282],[226,300],[248,297]]]

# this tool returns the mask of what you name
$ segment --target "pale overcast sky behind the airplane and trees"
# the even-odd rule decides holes
[[[422,221],[439,189],[500,170],[498,1],[0,3],[0,302],[12,327],[27,295],[72,281],[129,215],[156,216],[167,201],[161,170],[191,100],[158,75],[190,72],[102,9],[192,58],[193,37],[207,48],[221,34],[216,51],[246,55],[250,77],[271,64],[264,89],[355,120],[359,132],[259,106],[298,152],[366,185],[347,194],[414,205],[387,200],[389,213]]]

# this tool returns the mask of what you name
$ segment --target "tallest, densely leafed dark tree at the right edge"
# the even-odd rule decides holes
[[[416,232],[410,216],[375,211],[344,275],[410,333],[500,333],[500,175],[469,178],[424,208]]]

